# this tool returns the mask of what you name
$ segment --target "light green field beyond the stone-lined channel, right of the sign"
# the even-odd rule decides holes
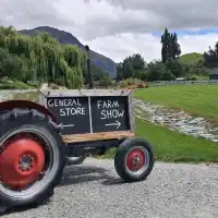
[[[134,97],[218,121],[218,85],[173,85],[134,92]]]

